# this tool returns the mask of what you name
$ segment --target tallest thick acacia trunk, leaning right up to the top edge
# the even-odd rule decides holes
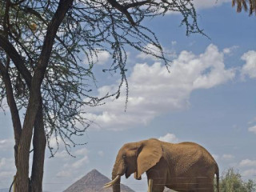
[[[29,158],[30,158],[30,142],[34,122],[36,120],[41,98],[41,85],[46,72],[46,67],[50,59],[50,53],[53,48],[54,38],[58,31],[58,27],[62,23],[66,12],[70,9],[73,0],[60,0],[58,8],[50,25],[47,28],[46,38],[42,46],[42,52],[38,58],[38,64],[34,70],[34,76],[31,82],[30,99],[27,106],[25,120],[22,127],[22,135],[18,146],[18,170],[16,174],[16,191],[28,192],[29,185]]]

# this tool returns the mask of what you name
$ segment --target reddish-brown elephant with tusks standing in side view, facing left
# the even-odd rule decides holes
[[[182,192],[214,192],[216,174],[219,192],[218,164],[212,155],[194,142],[170,143],[150,138],[130,142],[118,151],[112,170],[112,181],[105,187],[120,192],[122,175],[142,179],[146,172],[150,192],[162,192],[165,188]]]

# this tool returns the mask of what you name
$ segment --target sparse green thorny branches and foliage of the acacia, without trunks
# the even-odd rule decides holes
[[[54,17],[58,2],[35,0],[0,3],[1,43],[9,46],[0,50],[0,60],[9,70],[18,109],[26,109],[30,95],[27,85],[29,81],[22,77],[19,71],[21,69],[15,66],[13,58],[16,57],[18,62],[22,62],[22,68],[26,68],[28,77],[34,75],[47,28],[50,26],[50,18]],[[82,106],[102,104],[103,98],[114,95],[118,98],[123,85],[126,86],[128,94],[127,46],[161,58],[167,65],[158,38],[152,30],[142,26],[142,21],[144,18],[154,18],[170,11],[182,14],[182,24],[186,26],[187,35],[202,34],[197,25],[197,14],[190,1],[74,1],[58,27],[45,78],[42,80],[43,116],[48,144],[50,138],[55,136],[61,138],[67,147],[76,145],[71,136],[82,134],[90,125],[90,120],[82,115],[85,113]],[[161,54],[155,54],[147,45],[153,45]],[[6,50],[9,51],[8,57]],[[106,71],[120,73],[122,81],[115,93],[94,98],[90,94],[90,80],[94,81],[92,68],[94,58],[102,51],[112,56],[112,64],[106,67]],[[10,55],[14,55],[13,58]],[[6,91],[4,82],[1,81],[0,84],[2,103]]]

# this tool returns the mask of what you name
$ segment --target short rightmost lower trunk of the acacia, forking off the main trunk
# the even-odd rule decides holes
[[[30,179],[30,191],[31,192],[42,192],[42,178],[43,178],[43,167],[45,160],[45,150],[46,150],[46,135],[43,124],[43,114],[42,114],[42,98],[41,105],[38,109],[38,114],[34,122],[34,155],[33,155],[33,165],[32,173]]]

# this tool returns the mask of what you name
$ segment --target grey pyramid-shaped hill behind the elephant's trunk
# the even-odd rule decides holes
[[[74,182],[74,184],[63,192],[112,192],[112,187],[103,188],[103,186],[110,181],[109,178],[99,173],[98,170],[91,170],[86,176]],[[121,184],[121,192],[134,192],[134,190]]]

